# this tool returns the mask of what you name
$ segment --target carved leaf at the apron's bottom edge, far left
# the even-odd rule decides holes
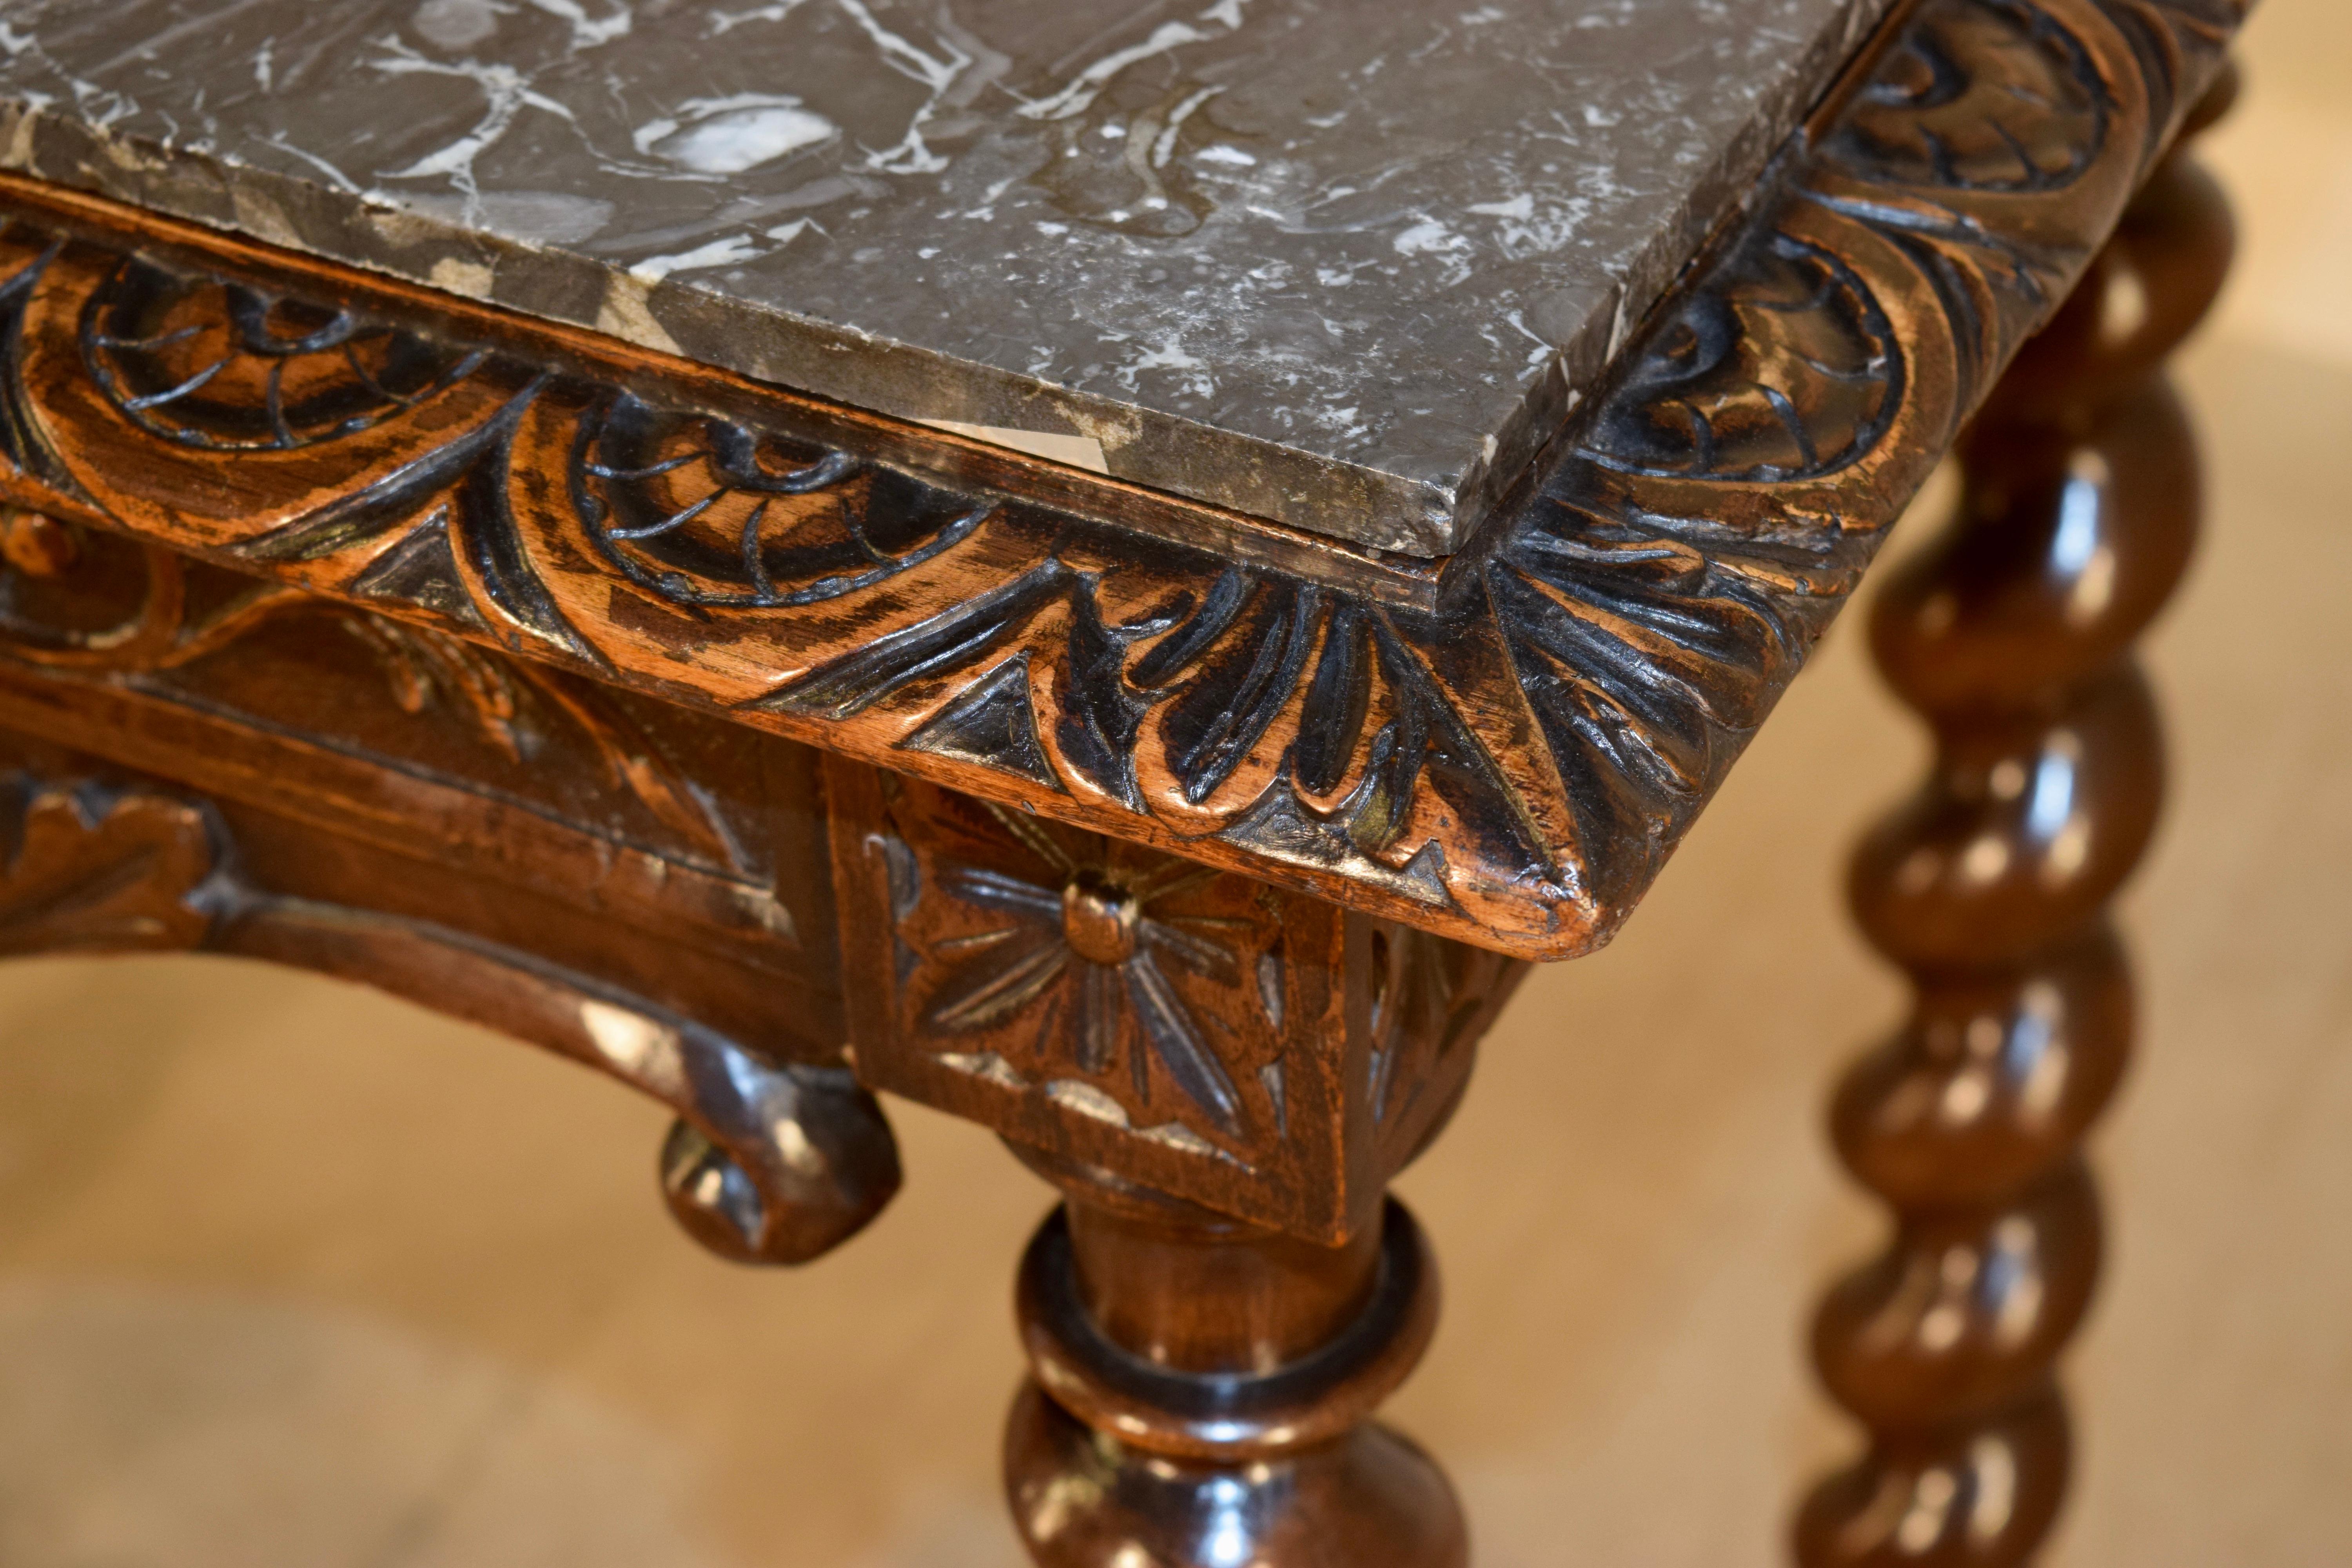
[[[7,795],[0,952],[195,947],[212,926],[214,870],[205,813],[162,795],[42,785]]]

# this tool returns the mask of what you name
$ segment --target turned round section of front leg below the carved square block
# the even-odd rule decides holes
[[[1021,1265],[1004,1490],[1047,1568],[1463,1568],[1461,1507],[1369,1425],[1437,1324],[1421,1227],[1324,1248],[1058,1168]]]

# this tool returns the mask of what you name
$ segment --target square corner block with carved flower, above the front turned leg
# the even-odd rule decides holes
[[[828,766],[858,1077],[1338,1241],[1522,964],[858,764]]]

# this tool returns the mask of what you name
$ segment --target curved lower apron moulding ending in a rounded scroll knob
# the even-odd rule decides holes
[[[727,1258],[807,1262],[898,1187],[882,1110],[847,1067],[769,1060],[454,926],[254,886],[198,797],[5,766],[0,842],[0,954],[209,950],[301,964],[503,1027],[670,1105],[663,1194]]]

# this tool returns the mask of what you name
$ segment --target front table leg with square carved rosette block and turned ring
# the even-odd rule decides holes
[[[1449,1568],[1369,1425],[1437,1326],[1385,1197],[1524,964],[828,762],[858,1077],[1058,1185],[1004,1443],[1049,1568]]]

